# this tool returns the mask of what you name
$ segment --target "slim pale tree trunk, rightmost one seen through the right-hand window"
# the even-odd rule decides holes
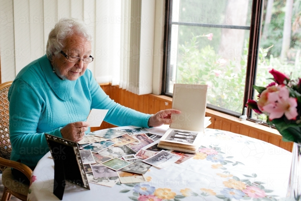
[[[292,30],[293,0],[286,0],[285,15],[282,35],[281,59],[286,58],[287,50],[290,48],[290,35]]]

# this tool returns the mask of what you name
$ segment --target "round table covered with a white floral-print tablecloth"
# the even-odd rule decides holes
[[[49,155],[33,171],[28,200],[59,200],[53,195]],[[206,128],[193,158],[163,169],[151,167],[144,175],[148,182],[113,187],[89,183],[91,190],[67,183],[63,200],[284,200],[291,160],[291,152],[272,144]]]

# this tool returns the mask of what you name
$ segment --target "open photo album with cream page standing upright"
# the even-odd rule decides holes
[[[210,117],[205,117],[207,85],[174,84],[172,109],[181,114],[172,114],[170,128],[161,137],[158,147],[175,151],[196,153],[209,126]]]

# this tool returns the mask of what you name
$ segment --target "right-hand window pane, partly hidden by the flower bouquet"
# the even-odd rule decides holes
[[[301,77],[301,3],[293,0],[265,1],[262,16],[260,49],[257,63],[256,85],[267,86],[274,68],[292,79]],[[258,93],[255,91],[254,97]],[[253,118],[266,121],[265,115],[252,113]]]

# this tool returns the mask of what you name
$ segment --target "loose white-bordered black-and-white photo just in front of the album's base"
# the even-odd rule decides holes
[[[167,151],[160,151],[156,155],[149,157],[148,159],[143,160],[143,162],[153,165],[157,168],[165,168],[169,165],[172,165],[176,161],[178,161],[181,157]]]

